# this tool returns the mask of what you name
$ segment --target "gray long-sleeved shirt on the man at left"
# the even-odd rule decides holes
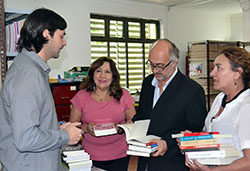
[[[58,129],[48,83],[50,68],[35,52],[19,53],[0,94],[0,161],[3,171],[60,171],[60,147],[69,141]]]

